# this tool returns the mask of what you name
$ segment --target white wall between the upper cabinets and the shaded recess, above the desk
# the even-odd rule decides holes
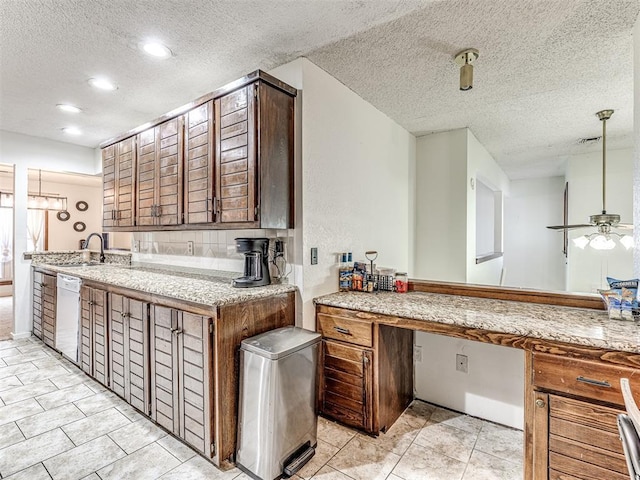
[[[337,253],[364,260],[366,250],[377,250],[378,265],[408,269],[415,137],[307,59],[272,73],[302,90],[299,285],[303,325],[313,329],[313,298],[338,287]],[[310,265],[311,247],[317,265]]]

